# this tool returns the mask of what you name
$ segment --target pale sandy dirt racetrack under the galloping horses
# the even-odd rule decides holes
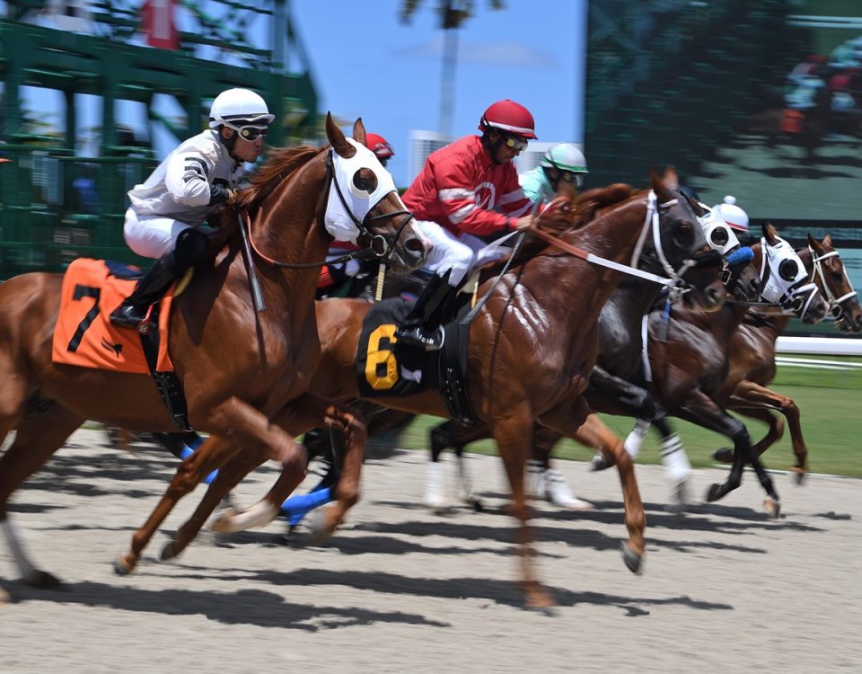
[[[79,430],[13,498],[12,517],[63,590],[15,580],[0,540],[0,672],[835,672],[862,662],[862,482],[776,475],[784,511],[743,487],[685,516],[662,509],[661,469],[638,466],[647,507],[644,574],[620,559],[619,480],[560,462],[597,510],[539,503],[541,578],[559,608],[526,611],[515,585],[513,526],[499,512],[497,457],[471,456],[490,511],[440,517],[420,506],[426,457],[365,465],[364,499],[329,545],[285,545],[283,522],[207,533],[156,563],[197,502],[180,503],[134,575],[110,563],[172,475],[174,459],[137,456]],[[260,469],[236,492],[256,501]],[[723,480],[699,471],[699,494]],[[0,590],[2,591],[2,590]]]

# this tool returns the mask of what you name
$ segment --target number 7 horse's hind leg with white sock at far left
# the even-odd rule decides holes
[[[34,587],[55,587],[60,581],[31,563],[15,536],[6,505],[15,489],[44,466],[83,421],[75,412],[53,404],[47,411],[18,422],[12,447],[0,458],[0,526],[23,581]]]

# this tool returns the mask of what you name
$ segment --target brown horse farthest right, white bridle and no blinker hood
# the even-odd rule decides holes
[[[840,255],[826,235],[818,242],[808,235],[808,247],[797,250],[812,281],[816,282],[823,297],[829,301],[831,314],[840,330],[848,333],[862,331],[862,306],[859,306],[856,290],[844,270]],[[787,418],[793,453],[796,457],[797,478],[802,480],[807,469],[808,448],[802,434],[799,408],[792,398],[771,391],[767,386],[775,378],[776,341],[787,327],[790,316],[763,315],[751,312],[745,317],[730,345],[730,368],[721,399],[726,407],[769,426],[767,434],[752,447],[755,457],[778,442],[784,434],[781,418],[774,414],[778,410]],[[731,448],[718,449],[714,454],[720,461],[733,460]]]

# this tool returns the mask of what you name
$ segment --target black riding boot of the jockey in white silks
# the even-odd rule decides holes
[[[110,322],[146,332],[148,326],[144,325],[144,320],[150,306],[162,299],[175,279],[206,257],[208,249],[207,235],[191,227],[184,229],[177,237],[176,248],[147,270],[132,294],[114,309]]]

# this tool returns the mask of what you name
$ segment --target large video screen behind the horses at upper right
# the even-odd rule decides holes
[[[670,164],[752,220],[862,226],[862,3],[592,0],[588,33],[589,185]]]

